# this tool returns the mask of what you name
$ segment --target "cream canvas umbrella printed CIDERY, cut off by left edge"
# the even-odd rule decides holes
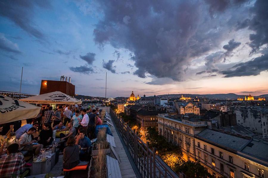
[[[40,107],[0,95],[0,124],[36,117]]]

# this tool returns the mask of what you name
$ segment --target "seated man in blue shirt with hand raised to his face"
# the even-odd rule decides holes
[[[76,144],[80,149],[79,158],[81,161],[88,161],[87,151],[91,146],[91,141],[88,137],[85,137],[85,130],[80,130],[80,134],[77,136]]]

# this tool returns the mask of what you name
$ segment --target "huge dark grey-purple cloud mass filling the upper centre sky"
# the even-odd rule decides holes
[[[233,1],[235,2],[235,1]],[[130,51],[138,68],[133,74],[183,81],[194,58],[218,49],[243,15],[230,9],[226,15],[210,16],[200,1],[99,1],[103,18],[94,29],[100,47],[110,44]],[[228,6],[229,7],[229,6]]]

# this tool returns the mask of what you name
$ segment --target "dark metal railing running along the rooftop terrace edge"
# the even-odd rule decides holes
[[[179,177],[112,109],[110,115],[141,177]]]

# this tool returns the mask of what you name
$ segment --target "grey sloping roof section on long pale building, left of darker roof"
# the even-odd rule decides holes
[[[236,151],[242,150],[250,142],[247,139],[242,139],[236,136],[224,134],[210,129],[205,129],[196,136],[197,138],[209,141],[212,144],[215,143],[217,145],[225,147],[225,149],[230,148]]]

